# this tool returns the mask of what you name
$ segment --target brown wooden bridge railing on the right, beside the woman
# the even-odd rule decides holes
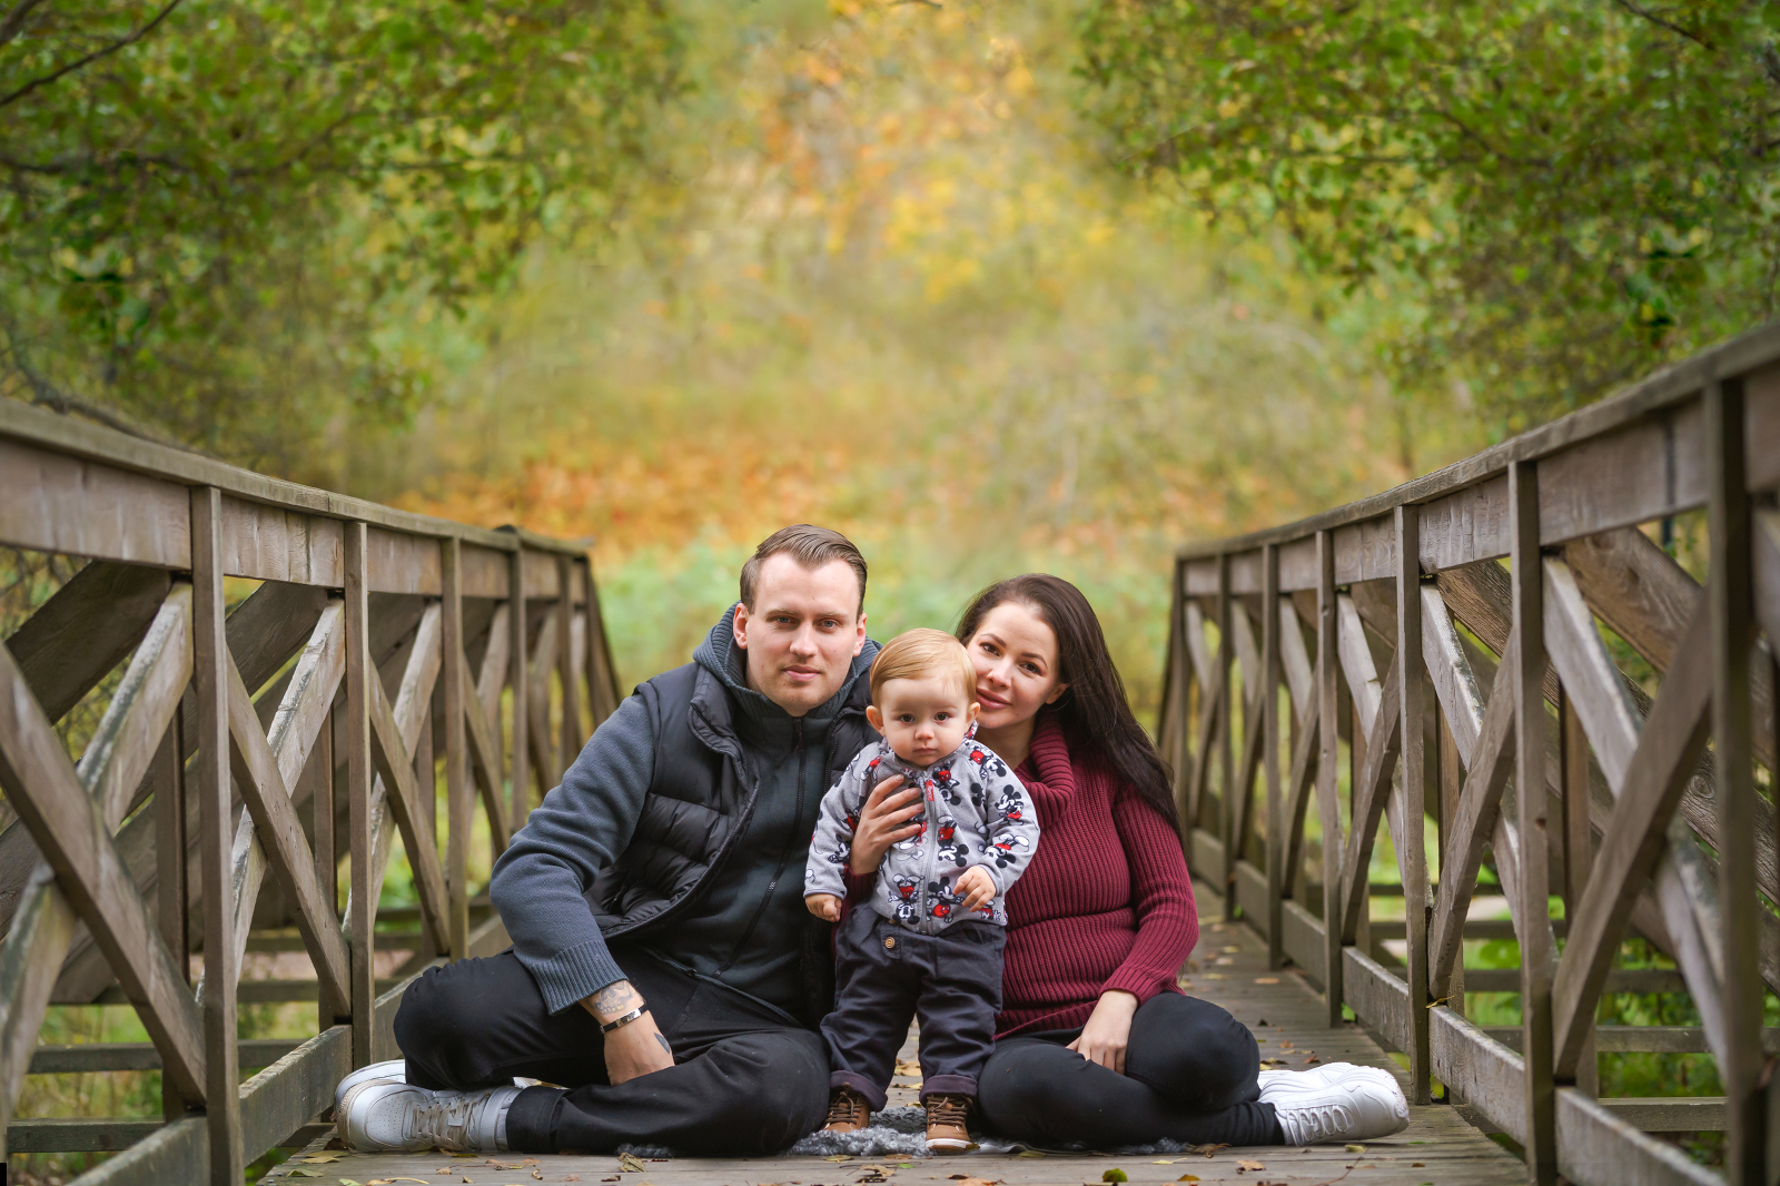
[[[1534,1181],[1721,1181],[1650,1136],[1714,1129],[1730,1181],[1771,1181],[1776,488],[1769,326],[1388,493],[1178,554],[1159,735],[1194,873],[1331,1026],[1347,1006],[1408,1054],[1415,1102],[1440,1081]],[[1641,531],[1702,508],[1703,588]],[[1397,860],[1374,885],[1381,823]],[[1463,940],[1501,930],[1468,921],[1485,865],[1520,969],[1463,967]],[[1374,921],[1387,894],[1403,908]],[[1616,969],[1632,930],[1679,974]],[[1518,992],[1517,1040],[1467,1020],[1467,990]],[[1698,1026],[1597,1028],[1604,992],[1659,990]],[[1725,1095],[1597,1099],[1606,1051],[1711,1051]]]

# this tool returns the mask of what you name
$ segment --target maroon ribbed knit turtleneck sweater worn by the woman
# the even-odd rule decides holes
[[[997,1036],[1075,1029],[1114,988],[1139,1004],[1180,992],[1175,976],[1200,938],[1200,917],[1168,821],[1111,771],[1073,762],[1050,714],[1015,773],[1041,832],[1007,892]]]

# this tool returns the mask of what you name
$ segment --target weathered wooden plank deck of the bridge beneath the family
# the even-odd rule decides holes
[[[1207,915],[1218,908],[1216,894],[1203,881],[1198,883],[1202,910]],[[1193,967],[1184,979],[1191,983],[1193,995],[1216,1001],[1228,1008],[1239,1020],[1250,1026],[1262,1044],[1262,1058],[1269,1065],[1303,1068],[1308,1058],[1319,1061],[1355,1061],[1371,1067],[1383,1067],[1399,1079],[1401,1068],[1392,1061],[1365,1029],[1356,1024],[1344,1024],[1337,1029],[1324,1028],[1323,1001],[1305,985],[1296,972],[1269,972],[1267,946],[1248,926],[1209,922],[1200,937]],[[1266,1024],[1262,1024],[1266,1022]],[[906,1051],[913,1056],[913,1047]],[[908,1079],[902,1079],[906,1084]],[[892,1106],[913,1104],[913,1092],[892,1090]],[[1347,1152],[1342,1145],[1317,1145],[1312,1149],[1218,1149],[1212,1156],[1191,1152],[1148,1152],[1148,1154],[1047,1154],[1043,1158],[1020,1158],[1013,1152],[1002,1154],[965,1154],[958,1158],[853,1158],[849,1161],[824,1161],[819,1158],[673,1158],[669,1161],[646,1161],[643,1174],[623,1174],[623,1182],[630,1186],[765,1186],[780,1182],[801,1182],[803,1186],[851,1186],[862,1177],[867,1165],[886,1165],[913,1161],[908,1168],[897,1168],[890,1175],[892,1184],[908,1186],[951,1186],[951,1175],[972,1175],[999,1181],[1006,1186],[1080,1186],[1098,1182],[1109,1168],[1125,1170],[1130,1182],[1137,1186],[1161,1186],[1175,1182],[1184,1174],[1194,1174],[1202,1182],[1228,1182],[1230,1186],[1255,1182],[1285,1182],[1287,1186],[1314,1186],[1340,1179],[1342,1186],[1420,1186],[1422,1182],[1440,1182],[1440,1186],[1511,1186],[1525,1181],[1522,1163],[1506,1149],[1492,1141],[1476,1127],[1456,1115],[1454,1108],[1431,1104],[1410,1109],[1410,1127],[1396,1136],[1367,1141],[1362,1154]],[[326,1140],[312,1145],[322,1150]],[[356,1182],[372,1179],[418,1177],[429,1182],[468,1177],[475,1184],[500,1186],[504,1182],[566,1182],[578,1177],[582,1182],[598,1182],[602,1177],[619,1177],[614,1156],[527,1156],[495,1154],[477,1158],[450,1158],[440,1152],[429,1154],[351,1154],[328,1150],[338,1161],[322,1166],[306,1166],[299,1159],[288,1161],[271,1175],[267,1182],[288,1182],[299,1186],[313,1181],[292,1177],[292,1170],[328,1170],[331,1179],[345,1177]],[[498,1163],[498,1168],[490,1165]],[[1258,1161],[1266,1170],[1244,1170],[1242,1161]],[[438,1170],[449,1168],[450,1174]],[[532,1177],[532,1172],[539,1177]]]

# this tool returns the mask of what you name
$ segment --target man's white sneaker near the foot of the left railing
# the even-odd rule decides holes
[[[518,1095],[516,1086],[429,1092],[370,1081],[347,1092],[335,1125],[358,1152],[506,1152],[507,1108]]]

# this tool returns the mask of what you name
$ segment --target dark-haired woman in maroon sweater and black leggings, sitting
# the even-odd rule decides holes
[[[986,1127],[1089,1147],[1401,1131],[1408,1104],[1388,1072],[1260,1072],[1255,1035],[1175,985],[1198,914],[1173,780],[1125,703],[1080,589],[1036,573],[1002,581],[970,604],[958,639],[977,673],[977,737],[1027,785],[1041,828],[1007,896],[1002,1013],[977,1097]],[[913,792],[881,791],[860,821],[854,865],[876,867],[883,846],[911,832]]]

